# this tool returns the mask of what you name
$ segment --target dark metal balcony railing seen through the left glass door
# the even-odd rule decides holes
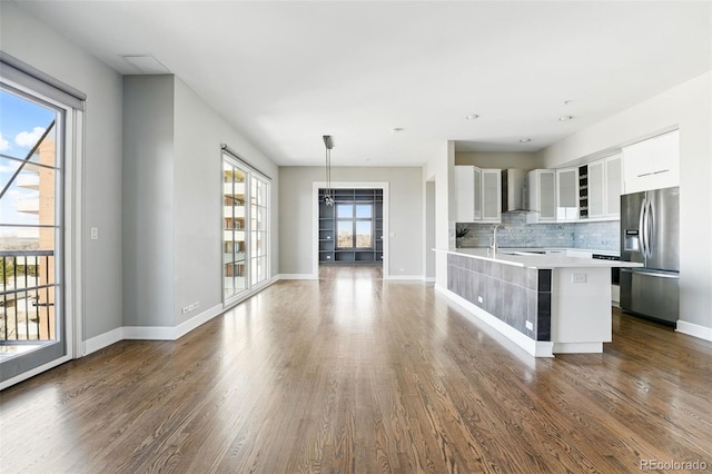
[[[55,339],[53,250],[0,251],[0,344]]]

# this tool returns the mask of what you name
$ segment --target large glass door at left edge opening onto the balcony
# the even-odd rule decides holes
[[[72,356],[66,158],[79,111],[22,77],[0,78],[0,386]]]

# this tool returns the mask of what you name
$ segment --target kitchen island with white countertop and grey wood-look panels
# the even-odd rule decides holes
[[[566,251],[435,251],[447,254],[447,288],[438,289],[535,357],[602,353],[612,333],[611,267],[640,266]]]

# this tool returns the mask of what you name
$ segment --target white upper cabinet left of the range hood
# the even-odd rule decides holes
[[[502,218],[502,170],[455,166],[457,223],[498,223]]]

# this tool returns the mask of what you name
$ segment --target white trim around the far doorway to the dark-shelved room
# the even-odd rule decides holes
[[[388,181],[332,181],[332,189],[383,189],[383,275],[388,277],[388,248],[390,217],[390,196]],[[319,188],[326,188],[326,181],[312,182],[312,274],[319,275]]]

